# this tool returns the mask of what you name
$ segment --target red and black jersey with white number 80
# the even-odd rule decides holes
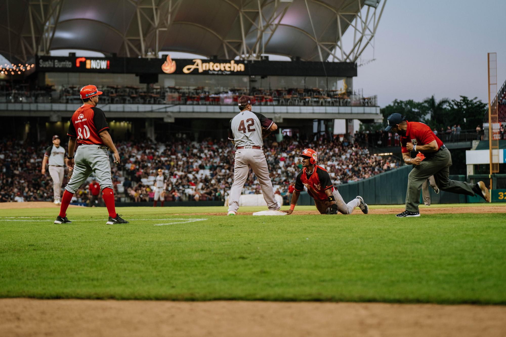
[[[104,111],[90,104],[83,104],[70,118],[67,136],[76,137],[78,144],[104,145],[99,136],[104,130],[109,130]]]

